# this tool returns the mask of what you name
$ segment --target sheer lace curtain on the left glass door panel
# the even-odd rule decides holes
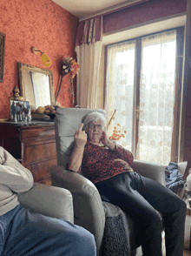
[[[112,135],[115,127],[120,133],[127,131],[125,138],[120,138],[118,143],[131,150],[135,80],[135,40],[113,44],[108,47],[106,79],[106,111],[108,112],[108,118],[116,110],[115,119],[108,127],[109,136]]]

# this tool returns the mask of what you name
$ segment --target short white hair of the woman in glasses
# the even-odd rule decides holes
[[[95,123],[98,120],[102,122],[103,126],[107,125],[107,119],[102,113],[97,111],[89,113],[88,116],[86,116],[86,118],[83,121],[83,130],[88,132],[89,124]]]

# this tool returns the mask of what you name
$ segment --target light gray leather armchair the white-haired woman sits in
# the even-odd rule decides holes
[[[74,222],[76,225],[83,226],[95,235],[97,255],[101,255],[106,220],[101,196],[95,185],[89,181],[89,179],[86,179],[79,173],[65,170],[65,165],[69,161],[69,156],[74,146],[74,134],[86,115],[91,111],[101,111],[105,114],[105,111],[103,110],[82,108],[56,109],[55,129],[57,165],[52,166],[50,172],[52,185],[63,187],[72,193]],[[165,185],[163,165],[135,160],[133,169],[143,176],[155,179],[162,185]],[[110,203],[105,202],[104,204],[109,205]],[[136,224],[132,223],[128,216],[127,221],[130,229],[131,255],[135,255],[135,248],[140,246],[139,232],[137,231]],[[112,252],[110,253],[110,256],[112,256]]]

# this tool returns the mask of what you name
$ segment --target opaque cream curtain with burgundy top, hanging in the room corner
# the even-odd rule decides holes
[[[102,52],[102,17],[79,24],[76,55],[80,72],[76,79],[76,103],[83,108],[96,108],[99,101],[99,69]]]

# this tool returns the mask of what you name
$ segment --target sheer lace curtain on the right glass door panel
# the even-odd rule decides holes
[[[136,158],[168,165],[175,105],[176,30],[142,38]]]

